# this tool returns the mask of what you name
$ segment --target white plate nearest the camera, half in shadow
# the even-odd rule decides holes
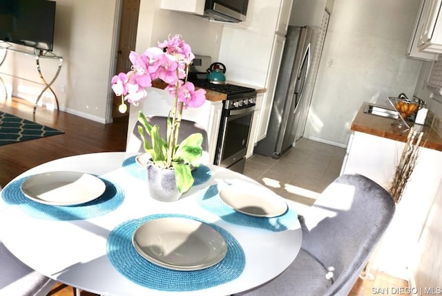
[[[146,260],[173,270],[200,270],[227,254],[224,237],[211,226],[192,219],[154,219],[135,230],[132,243]]]

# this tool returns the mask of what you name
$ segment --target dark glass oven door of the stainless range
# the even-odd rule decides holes
[[[215,165],[233,167],[244,161],[255,106],[223,111]]]

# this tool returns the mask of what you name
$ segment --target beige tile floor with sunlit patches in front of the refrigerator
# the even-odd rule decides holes
[[[294,201],[302,214],[339,176],[345,149],[301,138],[279,159],[253,154],[244,175]]]

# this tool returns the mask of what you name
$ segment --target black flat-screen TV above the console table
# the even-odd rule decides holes
[[[52,51],[55,1],[0,0],[0,40]]]

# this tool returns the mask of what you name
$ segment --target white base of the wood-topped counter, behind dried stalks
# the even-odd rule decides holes
[[[362,174],[387,188],[405,143],[354,132],[341,174]],[[419,159],[375,261],[379,270],[407,279],[431,205],[442,181],[442,152],[421,148]],[[368,213],[369,214],[369,213]],[[369,223],[369,219],[367,220]]]

